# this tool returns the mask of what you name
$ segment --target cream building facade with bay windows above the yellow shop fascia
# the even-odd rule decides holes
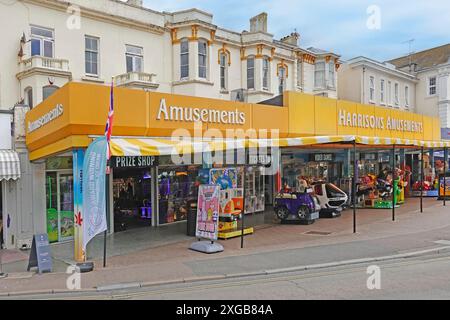
[[[46,197],[33,187],[46,167],[28,160],[24,115],[70,81],[247,102],[286,90],[337,98],[339,56],[301,48],[297,33],[275,40],[265,13],[235,32],[201,10],[157,12],[140,0],[17,0],[0,2],[0,25],[0,110],[13,123],[1,138],[21,167],[19,180],[2,182],[7,248],[46,228],[33,200]]]

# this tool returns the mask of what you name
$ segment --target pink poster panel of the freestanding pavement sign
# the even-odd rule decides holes
[[[219,194],[217,185],[200,185],[198,190],[197,230],[198,238],[216,241],[219,236]]]

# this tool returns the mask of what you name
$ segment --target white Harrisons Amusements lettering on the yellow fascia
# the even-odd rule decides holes
[[[392,117],[386,119],[368,114],[347,112],[342,109],[339,110],[338,123],[343,127],[423,133],[422,122]]]

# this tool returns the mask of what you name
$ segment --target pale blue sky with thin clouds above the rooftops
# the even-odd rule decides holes
[[[386,61],[450,43],[448,0],[144,0],[157,11],[198,8],[219,27],[249,30],[249,19],[268,14],[268,31],[280,39],[294,31],[302,48]],[[413,42],[408,42],[414,39]]]

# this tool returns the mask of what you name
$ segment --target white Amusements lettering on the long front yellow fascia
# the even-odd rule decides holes
[[[191,107],[167,107],[166,99],[161,99],[159,104],[157,120],[166,121],[187,121],[187,122],[205,122],[221,124],[245,124],[245,113],[238,109],[235,111],[225,111],[217,109],[201,109]]]

